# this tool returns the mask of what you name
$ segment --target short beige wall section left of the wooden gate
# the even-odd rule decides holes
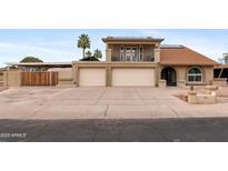
[[[21,70],[10,69],[3,72],[3,87],[20,87],[21,86]]]

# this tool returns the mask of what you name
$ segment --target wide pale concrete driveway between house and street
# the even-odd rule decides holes
[[[228,117],[228,103],[188,104],[178,88],[22,87],[0,92],[0,119],[158,119]]]

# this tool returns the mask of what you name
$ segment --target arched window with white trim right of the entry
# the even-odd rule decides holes
[[[202,82],[202,72],[198,67],[191,67],[187,73],[188,82]]]

